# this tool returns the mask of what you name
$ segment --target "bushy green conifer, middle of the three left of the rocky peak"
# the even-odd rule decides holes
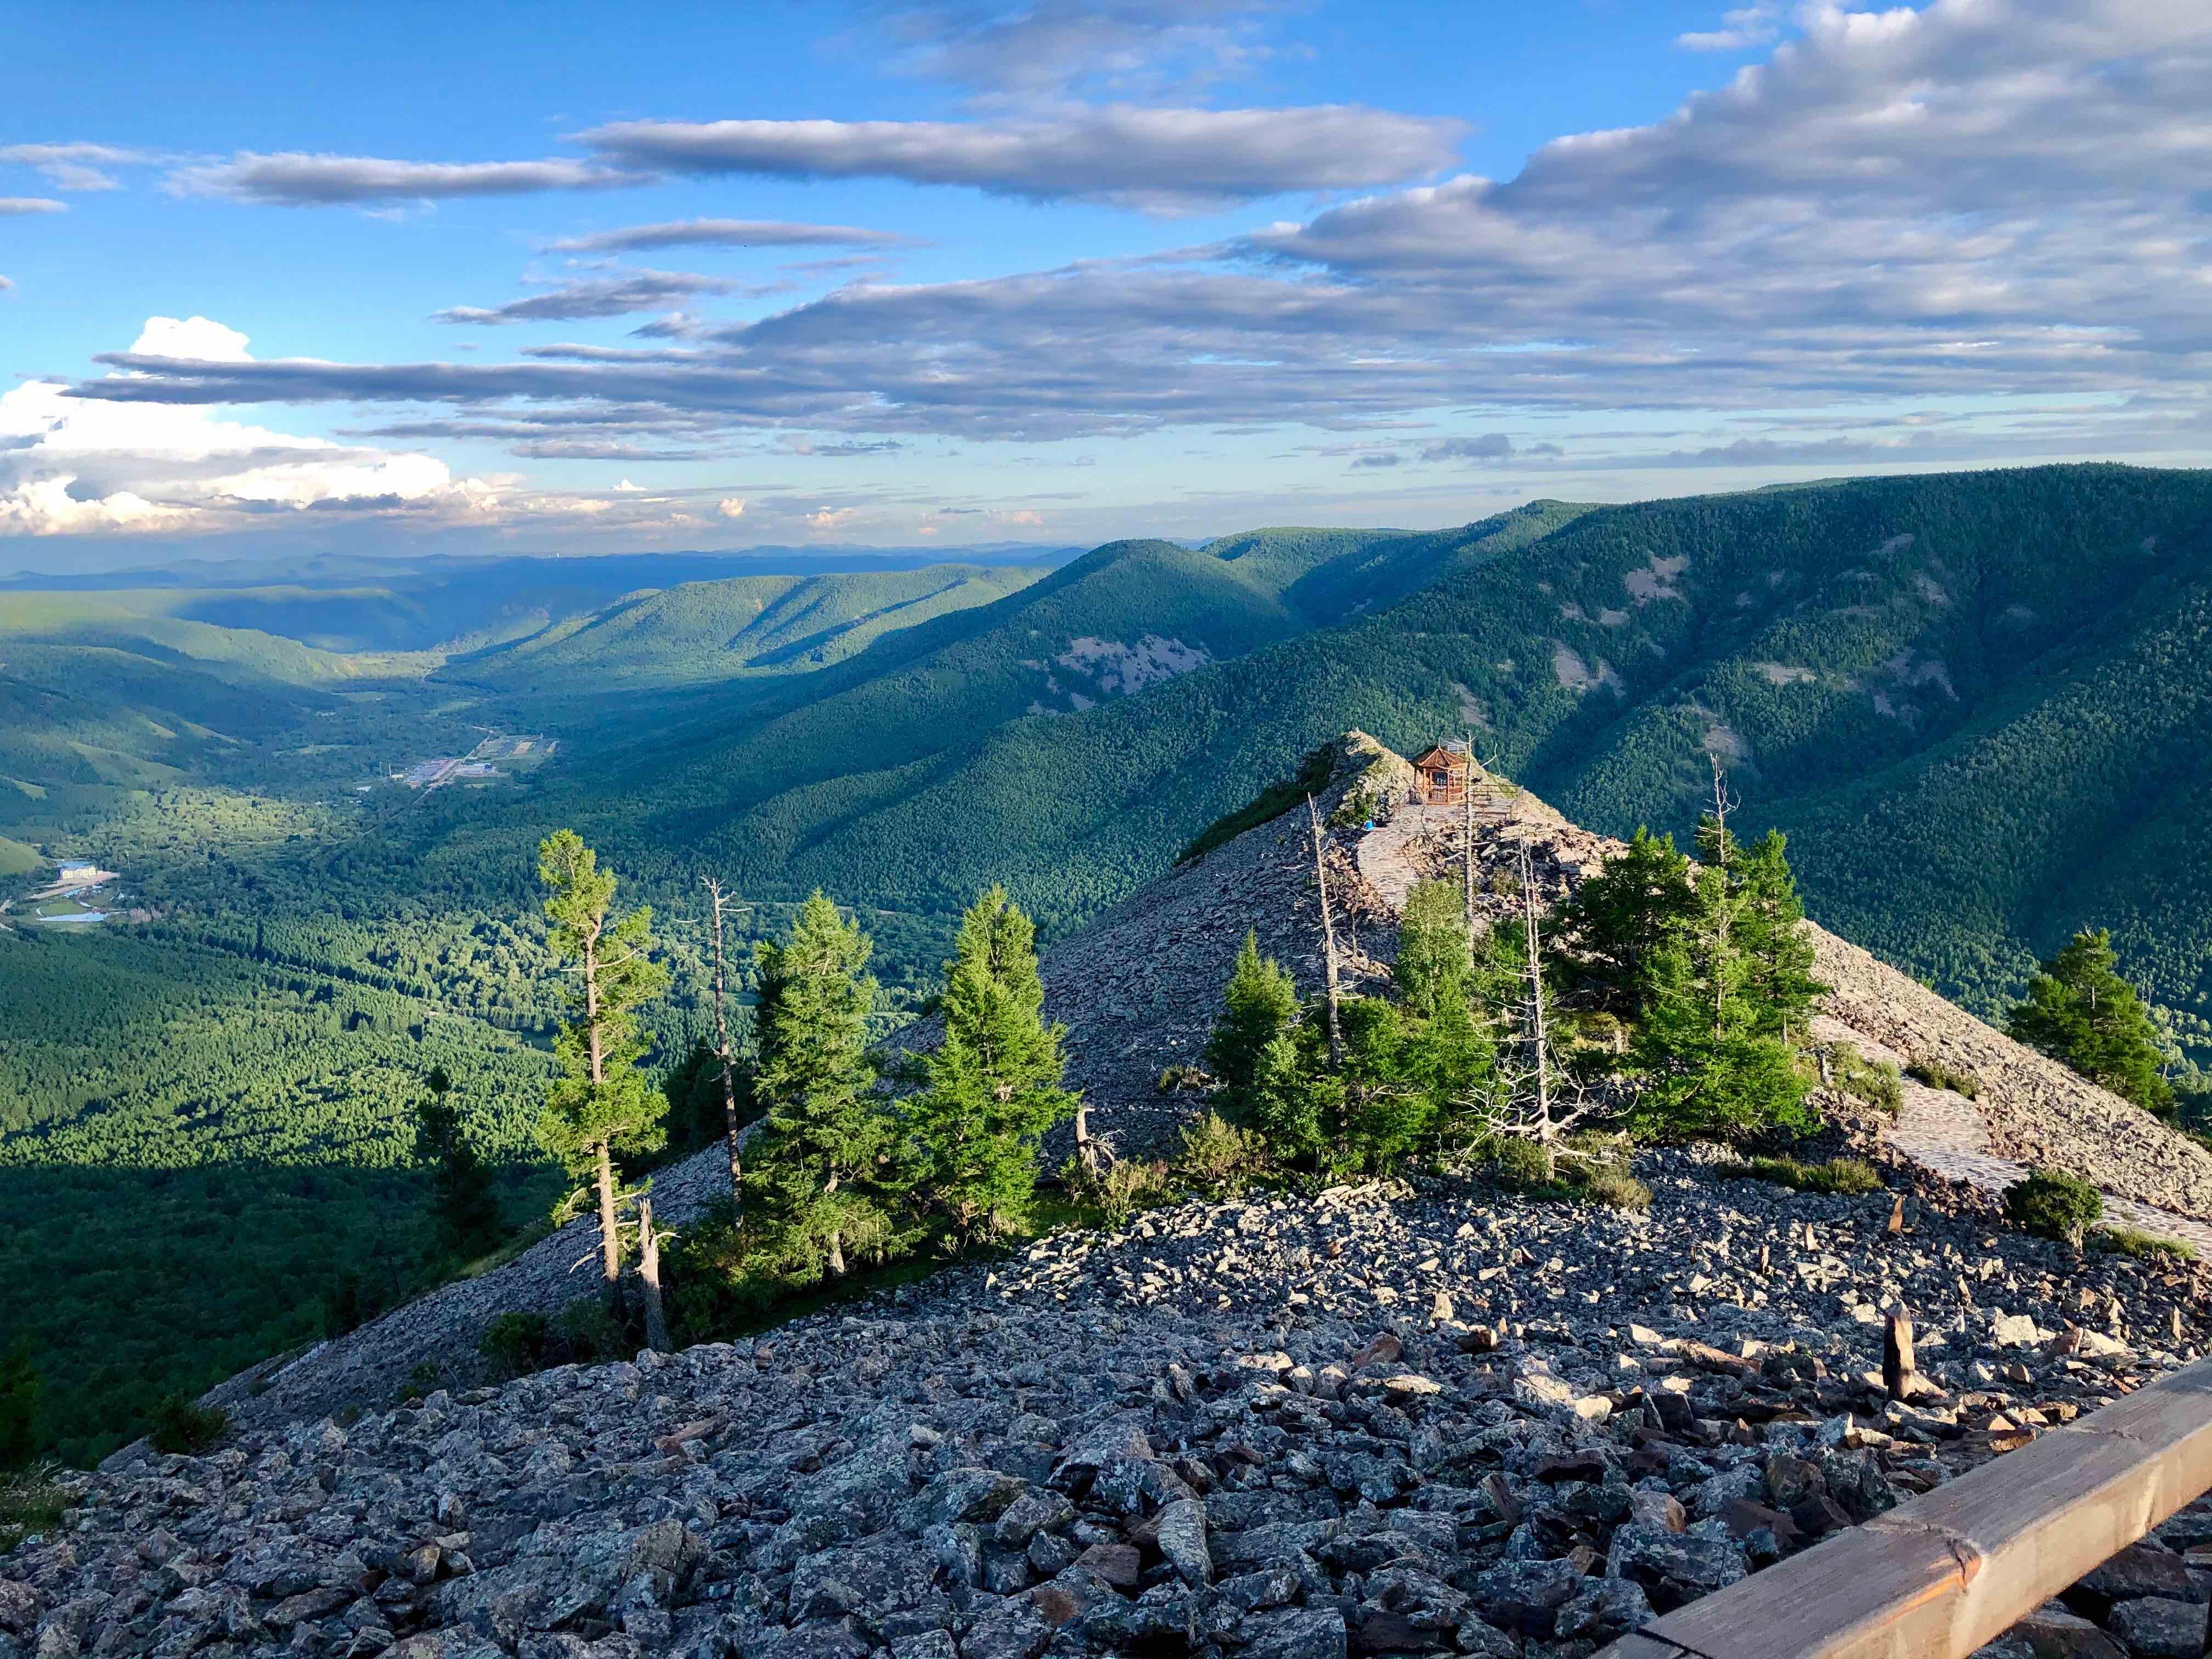
[[[847,1250],[876,1250],[891,1234],[883,1197],[898,1148],[867,1053],[876,980],[863,969],[874,947],[816,891],[781,945],[752,949],[763,1119],[745,1166],[745,1208],[803,1276],[843,1274]]]

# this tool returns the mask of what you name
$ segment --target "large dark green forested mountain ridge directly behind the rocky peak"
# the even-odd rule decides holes
[[[1823,920],[1978,1006],[2088,920],[2161,1002],[2201,1006],[2212,905],[2174,854],[2212,787],[2212,478],[2048,467],[1524,511],[1559,522],[1091,710],[1018,719],[1042,677],[1082,681],[1000,630],[692,768],[635,768],[637,832],[779,896],[942,909],[1006,878],[1068,927],[1347,723],[1398,748],[1471,728],[1606,832],[1686,827],[1717,752],[1750,818],[1798,838]]]

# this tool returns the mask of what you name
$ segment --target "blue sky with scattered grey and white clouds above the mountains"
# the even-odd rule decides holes
[[[0,568],[2199,465],[2174,0],[46,9]]]

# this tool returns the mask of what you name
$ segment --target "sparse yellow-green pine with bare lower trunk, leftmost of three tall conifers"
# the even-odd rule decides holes
[[[599,1199],[599,1265],[608,1294],[622,1281],[622,1221],[615,1212],[615,1152],[655,1152],[666,1144],[666,1102],[646,1088],[641,1062],[646,1033],[637,1009],[657,998],[666,969],[653,949],[653,911],[608,916],[615,878],[575,830],[546,836],[538,847],[538,878],[546,896],[546,940],[571,962],[575,1011],[553,1040],[560,1075],[546,1091],[538,1139]]]

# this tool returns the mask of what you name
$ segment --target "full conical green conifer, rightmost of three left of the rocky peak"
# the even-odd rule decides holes
[[[929,1203],[967,1245],[1029,1219],[1037,1144],[1073,1117],[1062,1026],[1044,1024],[1035,925],[993,887],[960,918],[945,964],[945,1040],[909,1104]]]

